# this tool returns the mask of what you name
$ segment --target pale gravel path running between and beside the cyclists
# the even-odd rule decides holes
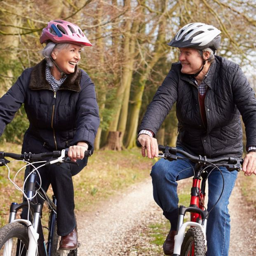
[[[186,181],[179,182],[181,187]],[[231,236],[229,256],[256,256],[256,214],[242,203],[239,183],[230,199]],[[164,222],[152,196],[151,179],[131,186],[126,193],[78,215],[79,256],[163,256],[146,233],[150,223]],[[141,250],[137,250],[142,247]]]

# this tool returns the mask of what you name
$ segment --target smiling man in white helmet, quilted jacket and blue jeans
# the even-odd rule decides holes
[[[180,50],[179,62],[158,88],[153,101],[139,127],[138,141],[143,157],[158,154],[154,138],[171,107],[176,102],[178,118],[177,147],[193,155],[210,158],[222,156],[242,157],[242,115],[247,136],[244,159],[245,175],[256,174],[256,99],[240,67],[221,56],[216,56],[221,37],[214,26],[190,23],[181,28],[168,44]],[[228,200],[235,185],[237,171],[221,168],[208,178],[209,202],[212,209],[207,223],[207,256],[228,256],[230,216]],[[153,195],[170,221],[171,229],[164,242],[166,255],[174,250],[174,235],[178,220],[176,181],[193,176],[190,163],[159,160],[152,168]]]

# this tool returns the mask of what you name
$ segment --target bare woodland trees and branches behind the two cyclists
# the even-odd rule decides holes
[[[177,49],[166,44],[187,23],[219,28],[217,54],[239,63],[256,89],[256,0],[0,0],[0,95],[42,59],[39,37],[52,19],[78,24],[93,44],[84,48],[79,67],[96,87],[96,149],[135,146],[143,113],[178,60]],[[174,145],[176,125],[174,106],[158,142]],[[21,143],[27,127],[22,107],[1,141]]]

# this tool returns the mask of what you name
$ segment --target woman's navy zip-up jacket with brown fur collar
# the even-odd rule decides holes
[[[0,99],[0,135],[24,103],[29,127],[22,152],[61,150],[79,141],[87,141],[93,149],[99,108],[92,80],[76,66],[54,93],[45,79],[45,64],[43,60],[24,70]]]

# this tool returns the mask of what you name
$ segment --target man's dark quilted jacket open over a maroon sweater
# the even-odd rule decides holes
[[[171,70],[149,104],[139,131],[154,134],[176,102],[177,146],[194,155],[242,157],[242,126],[245,124],[247,148],[256,146],[256,99],[239,65],[220,56],[212,63],[205,96],[207,129],[200,115],[197,86],[181,73],[181,64]]]

